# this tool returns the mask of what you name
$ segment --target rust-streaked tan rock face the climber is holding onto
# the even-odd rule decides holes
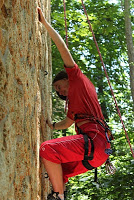
[[[41,128],[52,110],[51,42],[37,13],[40,6],[50,21],[49,1],[0,1],[1,200],[46,199],[49,190],[39,147],[51,137]]]

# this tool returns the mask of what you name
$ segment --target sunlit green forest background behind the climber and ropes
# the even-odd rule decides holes
[[[131,145],[134,147],[134,91],[132,87],[134,84],[134,51],[129,48],[131,45],[133,46],[134,42],[134,3],[132,1],[115,1],[113,3],[113,1],[107,0],[85,0],[84,2],[122,119]],[[125,10],[125,3],[128,6],[128,13]],[[67,0],[66,14],[69,50],[82,72],[96,87],[103,114],[114,135],[113,154],[110,159],[116,167],[114,175],[106,174],[105,165],[99,167],[97,183],[94,182],[94,171],[70,178],[67,186],[68,199],[133,200],[134,159],[117,114],[99,54],[89,31],[81,1]],[[65,39],[62,0],[51,1],[51,17],[52,26]],[[128,26],[127,19],[130,21],[130,26]],[[131,30],[128,30],[129,28]],[[127,37],[128,32],[130,38]],[[132,58],[129,57],[129,53]],[[63,62],[54,43],[52,43],[52,59],[54,77],[63,69]],[[59,121],[65,117],[64,102],[58,99],[54,91],[52,97],[53,119]],[[60,132],[55,131],[53,136],[61,137],[70,134],[75,134],[74,127]]]

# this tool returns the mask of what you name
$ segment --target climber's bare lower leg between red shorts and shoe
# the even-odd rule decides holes
[[[43,158],[42,160],[52,183],[54,192],[59,192],[59,194],[63,194],[65,185],[63,183],[63,172],[61,164],[53,163],[46,160],[45,158]]]

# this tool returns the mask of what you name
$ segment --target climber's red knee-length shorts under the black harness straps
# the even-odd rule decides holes
[[[92,123],[84,124],[80,128],[90,135],[94,143],[94,158],[89,163],[93,167],[102,165],[108,158],[105,149],[110,148],[104,136],[104,129]],[[89,140],[89,155],[90,151]],[[69,177],[88,171],[82,164],[84,152],[84,138],[81,134],[48,140],[40,147],[41,157],[62,165],[64,182],[67,182]]]

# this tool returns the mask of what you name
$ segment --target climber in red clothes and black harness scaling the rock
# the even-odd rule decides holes
[[[48,117],[47,124],[52,130],[62,130],[75,123],[76,129],[76,135],[48,140],[40,147],[40,156],[53,187],[47,199],[65,200],[65,183],[69,177],[101,166],[108,159],[108,126],[94,85],[81,72],[64,40],[47,22],[39,7],[38,15],[64,62],[64,71],[54,78],[53,87],[68,103],[66,118],[53,123]]]

